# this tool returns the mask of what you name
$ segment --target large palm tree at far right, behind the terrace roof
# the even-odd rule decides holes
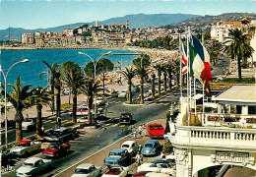
[[[238,79],[242,80],[241,60],[247,62],[247,58],[254,52],[249,43],[248,34],[242,29],[229,29],[228,37],[224,40],[224,53],[231,59],[237,60]]]

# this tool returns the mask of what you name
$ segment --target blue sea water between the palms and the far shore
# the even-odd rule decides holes
[[[56,49],[56,50],[2,50],[0,54],[0,64],[4,73],[17,61],[23,59],[29,59],[28,63],[20,63],[16,65],[9,73],[7,78],[8,84],[15,84],[17,77],[20,75],[22,78],[23,85],[32,85],[32,87],[47,86],[46,75],[39,79],[40,73],[47,72],[45,64],[39,60],[45,60],[47,63],[62,64],[66,61],[74,61],[81,67],[86,66],[90,62],[90,58],[85,55],[79,55],[81,51],[90,55],[92,58],[98,58],[100,54],[106,53],[110,50],[106,49]],[[133,51],[127,50],[111,50],[113,53],[134,53]],[[104,56],[110,59],[116,67],[122,65],[127,66],[132,63],[132,60],[136,58],[135,55],[126,56]],[[120,64],[119,64],[120,63]],[[4,84],[3,76],[1,74],[1,83]],[[10,87],[8,87],[10,91]]]

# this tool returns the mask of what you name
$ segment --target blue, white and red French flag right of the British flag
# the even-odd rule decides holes
[[[190,75],[198,79],[208,93],[210,93],[210,81],[212,72],[210,67],[210,55],[201,42],[192,35],[189,42],[190,51]]]

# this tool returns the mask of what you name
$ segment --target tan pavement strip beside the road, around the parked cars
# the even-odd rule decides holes
[[[165,121],[166,119],[159,119],[158,123],[162,124],[163,127],[165,127]],[[154,121],[156,122],[156,121]],[[93,163],[95,164],[96,166],[102,166],[103,168],[105,167],[103,165],[103,159],[105,157],[107,157],[108,155],[108,152],[113,149],[113,148],[120,148],[122,143],[124,143],[125,141],[130,141],[130,140],[134,140],[133,138],[133,135],[128,135],[126,137],[123,137],[122,139],[118,140],[117,142],[114,142],[113,144],[111,144],[110,146],[106,147],[106,148],[102,148],[98,151],[96,151],[94,154],[92,154],[91,156],[87,157],[86,159],[82,160],[82,161],[78,161],[76,164],[72,164],[69,168],[63,170],[63,171],[60,171],[59,174],[57,175],[54,175],[54,176],[57,176],[57,177],[70,177],[76,167],[82,163]],[[146,136],[146,137],[143,137],[143,138],[140,138],[138,135],[137,135],[137,139],[136,139],[136,142],[140,145],[144,145],[144,143],[148,140],[151,140],[150,137]],[[159,140],[160,141],[160,144],[164,144],[165,140]],[[147,162],[147,161],[152,161],[152,157],[149,157],[149,158],[144,158],[144,162]],[[137,164],[133,163],[132,165],[130,165],[130,169],[129,169],[129,173],[130,174],[133,174],[135,173],[137,170]]]

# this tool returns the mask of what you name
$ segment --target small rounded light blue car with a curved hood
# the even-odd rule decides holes
[[[162,145],[160,145],[159,141],[149,140],[144,144],[142,148],[142,154],[144,156],[157,155],[160,154],[161,149]]]

